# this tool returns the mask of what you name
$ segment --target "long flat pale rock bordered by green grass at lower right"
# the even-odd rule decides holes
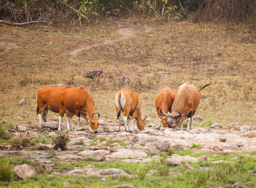
[[[180,156],[177,154],[171,155],[171,157],[165,160],[166,164],[168,165],[180,165],[181,162],[188,161],[188,162],[198,162],[198,161],[208,161],[207,155],[203,155],[202,157],[191,157],[189,155]]]

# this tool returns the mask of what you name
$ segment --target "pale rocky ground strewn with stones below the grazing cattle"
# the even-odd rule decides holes
[[[82,119],[81,122],[84,120]],[[81,131],[67,131],[70,142],[66,151],[53,150],[52,144],[38,143],[37,150],[13,148],[11,144],[1,145],[0,157],[23,157],[33,159],[41,164],[43,168],[52,170],[53,160],[58,162],[79,162],[83,160],[106,161],[106,162],[126,162],[126,163],[149,163],[153,160],[159,161],[161,152],[168,153],[175,151],[192,150],[194,153],[240,153],[242,151],[256,151],[256,130],[255,128],[243,125],[238,127],[231,124],[228,128],[222,128],[219,124],[211,127],[194,127],[190,132],[177,131],[169,128],[156,129],[157,125],[148,119],[148,127],[144,131],[139,131],[134,126],[134,133],[118,131],[117,122],[99,121],[99,132],[92,134],[88,130],[88,125],[82,127]],[[12,137],[42,138],[44,136],[55,136],[58,122],[49,121],[43,123],[43,129],[39,130],[36,122],[29,121],[27,124],[17,125],[12,129],[15,133]],[[122,127],[124,129],[124,127]],[[63,132],[66,132],[65,125],[62,125]],[[53,154],[53,151],[54,154]],[[182,162],[197,161],[222,162],[220,160],[208,159],[207,155],[201,157],[191,157],[189,155],[180,156],[169,155],[166,163],[169,165],[180,165]],[[186,164],[186,163],[185,163]],[[30,166],[23,164],[16,166],[14,170],[22,179],[34,175],[34,169],[28,170]],[[189,165],[189,164],[187,164]],[[20,172],[21,171],[21,172]],[[23,171],[29,172],[24,175]],[[19,173],[21,175],[19,175]],[[128,175],[125,171],[117,168],[99,169],[92,165],[75,167],[70,171],[53,172],[51,175],[97,175],[104,178],[106,175]]]

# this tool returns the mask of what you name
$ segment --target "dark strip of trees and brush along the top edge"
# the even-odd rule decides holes
[[[256,0],[0,0],[0,20],[11,22],[81,24],[122,16],[255,26]]]

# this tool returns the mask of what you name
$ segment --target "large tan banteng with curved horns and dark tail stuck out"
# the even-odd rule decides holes
[[[208,85],[210,84],[204,85],[204,87]],[[202,89],[204,89],[204,87],[202,87]],[[186,130],[190,131],[190,129],[193,129],[193,116],[200,102],[199,91],[201,90],[197,90],[197,88],[190,83],[184,83],[178,87],[171,113],[168,112],[166,114],[162,112],[162,109],[160,110],[161,114],[167,117],[166,121],[171,122],[171,126],[168,126],[169,128],[174,129],[178,122],[181,121],[180,130],[183,130],[183,121],[187,118]]]

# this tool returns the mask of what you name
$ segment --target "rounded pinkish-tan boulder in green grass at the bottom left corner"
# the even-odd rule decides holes
[[[27,164],[22,164],[19,166],[15,166],[13,172],[18,175],[18,177],[26,180],[28,177],[35,176],[36,171],[32,166]]]

